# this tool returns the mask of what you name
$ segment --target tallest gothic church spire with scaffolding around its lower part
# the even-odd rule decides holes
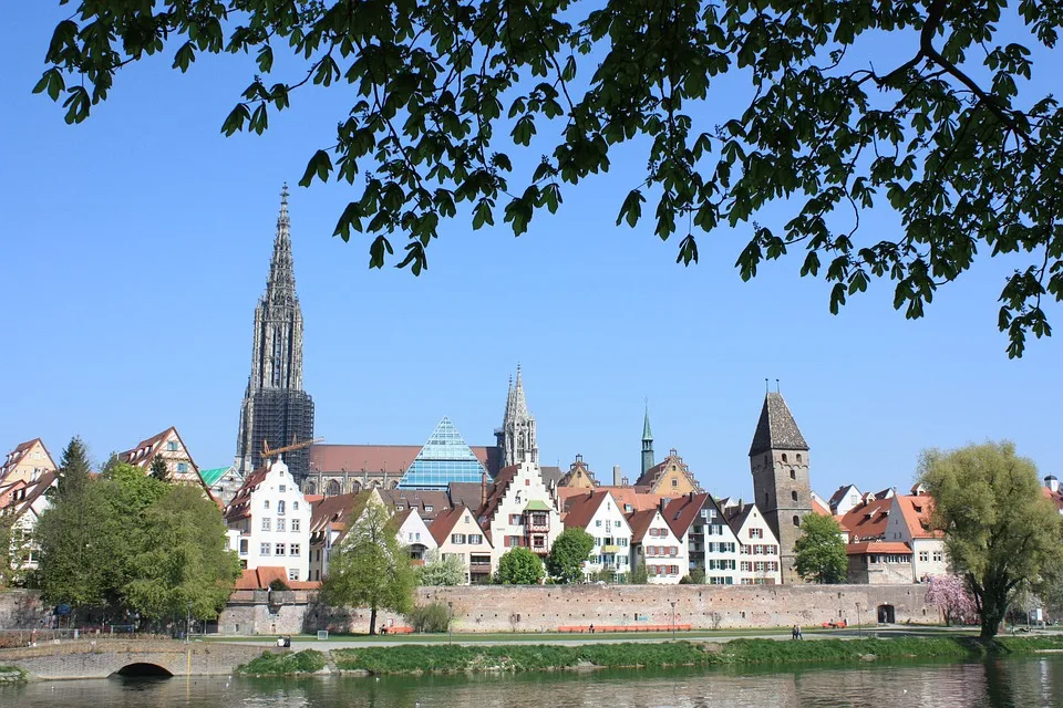
[[[280,215],[266,293],[255,308],[251,374],[240,408],[236,469],[241,476],[261,467],[264,442],[280,448],[313,437],[313,399],[302,389],[302,311],[296,294],[291,260],[288,186],[280,194]],[[310,471],[310,450],[285,454],[292,476]]]

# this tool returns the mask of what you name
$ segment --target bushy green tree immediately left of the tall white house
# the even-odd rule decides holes
[[[217,506],[199,489],[176,485],[144,510],[143,521],[143,544],[124,589],[130,607],[157,623],[178,623],[189,613],[216,617],[240,574]]]

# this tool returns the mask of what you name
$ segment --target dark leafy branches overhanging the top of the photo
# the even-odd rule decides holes
[[[34,92],[80,123],[131,62],[165,54],[187,72],[198,54],[254,54],[221,124],[230,136],[264,133],[310,86],[351,86],[300,184],[354,185],[336,235],[373,237],[382,268],[403,233],[398,264],[415,274],[442,219],[500,218],[519,236],[627,145],[646,150],[646,171],[616,195],[617,226],[654,200],[658,237],[687,231],[687,266],[695,233],[742,227],[745,280],[804,251],[801,274],[830,284],[832,312],[888,278],[894,306],[919,317],[979,249],[1012,253],[998,325],[1020,356],[1026,333],[1050,333],[1041,298],[1063,298],[1063,118],[1022,84],[1026,45],[1052,50],[1063,14],[1022,1],[999,22],[1002,6],[83,1],[56,25]],[[877,49],[883,34],[911,53]],[[295,59],[274,77],[286,49]],[[716,93],[736,81],[747,97]],[[896,212],[896,238],[859,238],[874,208]]]

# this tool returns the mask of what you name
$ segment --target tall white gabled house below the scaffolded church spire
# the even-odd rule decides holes
[[[310,580],[310,504],[282,461],[244,480],[225,521],[245,569],[279,566],[289,580]]]

